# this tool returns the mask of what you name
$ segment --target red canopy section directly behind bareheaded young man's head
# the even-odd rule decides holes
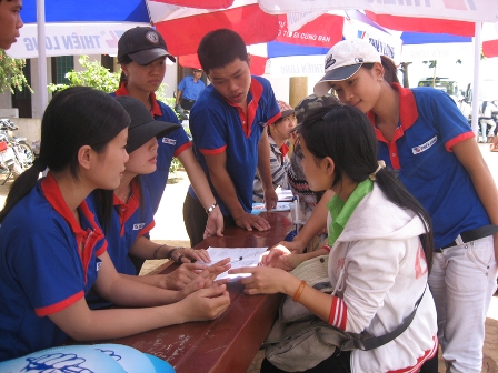
[[[197,53],[202,37],[217,29],[238,32],[246,44],[273,40],[278,36],[278,16],[265,13],[258,4],[158,22],[156,29],[173,56]],[[229,48],[230,46],[223,46]]]

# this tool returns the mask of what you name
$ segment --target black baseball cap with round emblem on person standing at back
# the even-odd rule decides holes
[[[149,64],[165,56],[172,62],[177,61],[168,52],[162,36],[150,27],[138,26],[124,31],[118,41],[118,61],[122,61],[124,56],[142,65]]]

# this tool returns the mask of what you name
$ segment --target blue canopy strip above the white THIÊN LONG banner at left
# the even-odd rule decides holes
[[[47,22],[150,22],[145,0],[50,0],[44,2]],[[37,22],[37,1],[23,0],[22,21]]]

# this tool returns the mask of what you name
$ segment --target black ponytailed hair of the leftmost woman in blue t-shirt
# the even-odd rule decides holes
[[[40,155],[13,182],[0,212],[0,222],[37,184],[38,175],[49,168],[69,170],[78,180],[78,152],[90,145],[103,153],[108,143],[130,123],[126,110],[109,94],[88,87],[68,88],[48,104],[41,121]]]

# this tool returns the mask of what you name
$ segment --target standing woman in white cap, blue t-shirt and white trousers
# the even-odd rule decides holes
[[[379,159],[429,212],[435,235],[429,285],[442,357],[450,372],[480,372],[497,279],[498,191],[474,132],[448,94],[402,88],[394,63],[363,40],[332,47],[325,70],[315,93],[332,89],[368,115]]]

